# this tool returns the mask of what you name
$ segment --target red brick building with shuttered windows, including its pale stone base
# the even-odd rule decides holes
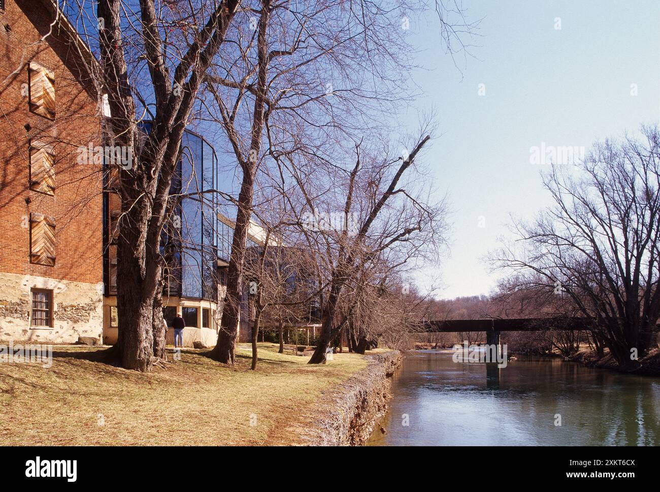
[[[0,1],[0,339],[101,337],[93,57],[52,0]],[[52,25],[51,25],[52,24]]]

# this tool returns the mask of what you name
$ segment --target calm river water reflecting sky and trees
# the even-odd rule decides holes
[[[492,371],[492,370],[491,370]],[[660,378],[521,357],[486,378],[451,351],[413,351],[366,443],[389,445],[660,445]],[[560,423],[561,425],[556,425]]]

